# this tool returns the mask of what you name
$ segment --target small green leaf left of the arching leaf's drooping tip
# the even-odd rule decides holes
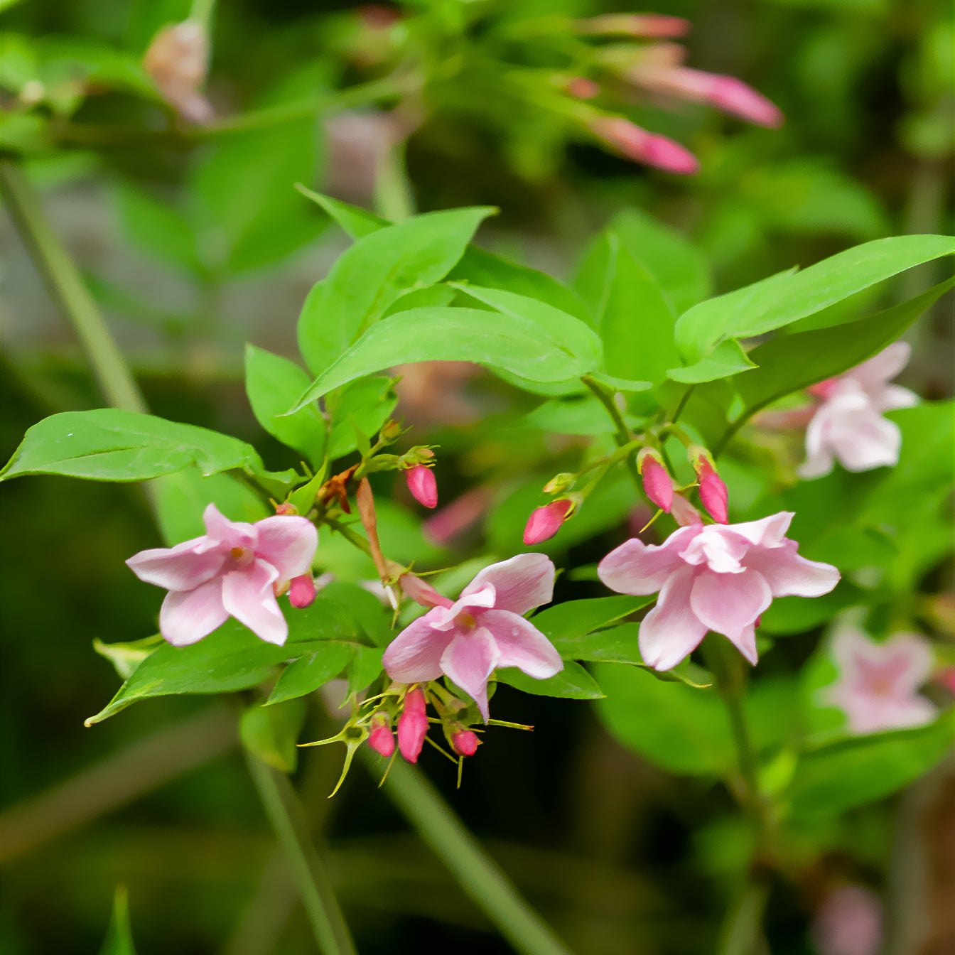
[[[256,420],[269,435],[294,448],[312,464],[322,460],[325,422],[314,405],[285,414],[308,388],[302,368],[271,351],[245,346],[245,393]]]

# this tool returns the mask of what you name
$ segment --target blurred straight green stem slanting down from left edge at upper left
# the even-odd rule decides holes
[[[63,309],[93,367],[96,382],[114,408],[146,411],[133,375],[73,259],[43,214],[30,180],[11,159],[0,159],[0,183],[11,219],[53,300]]]

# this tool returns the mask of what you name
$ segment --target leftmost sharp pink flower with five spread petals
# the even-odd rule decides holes
[[[281,646],[288,625],[275,595],[310,569],[318,545],[314,524],[295,517],[247,524],[223,518],[215,504],[202,520],[203,537],[144,550],[126,562],[139,580],[169,591],[159,632],[173,646],[185,647],[235,617]]]

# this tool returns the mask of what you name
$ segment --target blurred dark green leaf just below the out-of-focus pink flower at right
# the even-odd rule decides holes
[[[836,816],[889,796],[927,773],[952,746],[955,711],[917,730],[880,732],[803,753],[790,792],[798,816]]]

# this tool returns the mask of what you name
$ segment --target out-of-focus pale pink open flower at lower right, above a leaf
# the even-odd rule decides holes
[[[845,712],[852,732],[923,726],[938,715],[916,692],[932,670],[931,647],[917,634],[897,633],[877,644],[847,627],[833,638],[832,655],[839,677],[823,696]]]

